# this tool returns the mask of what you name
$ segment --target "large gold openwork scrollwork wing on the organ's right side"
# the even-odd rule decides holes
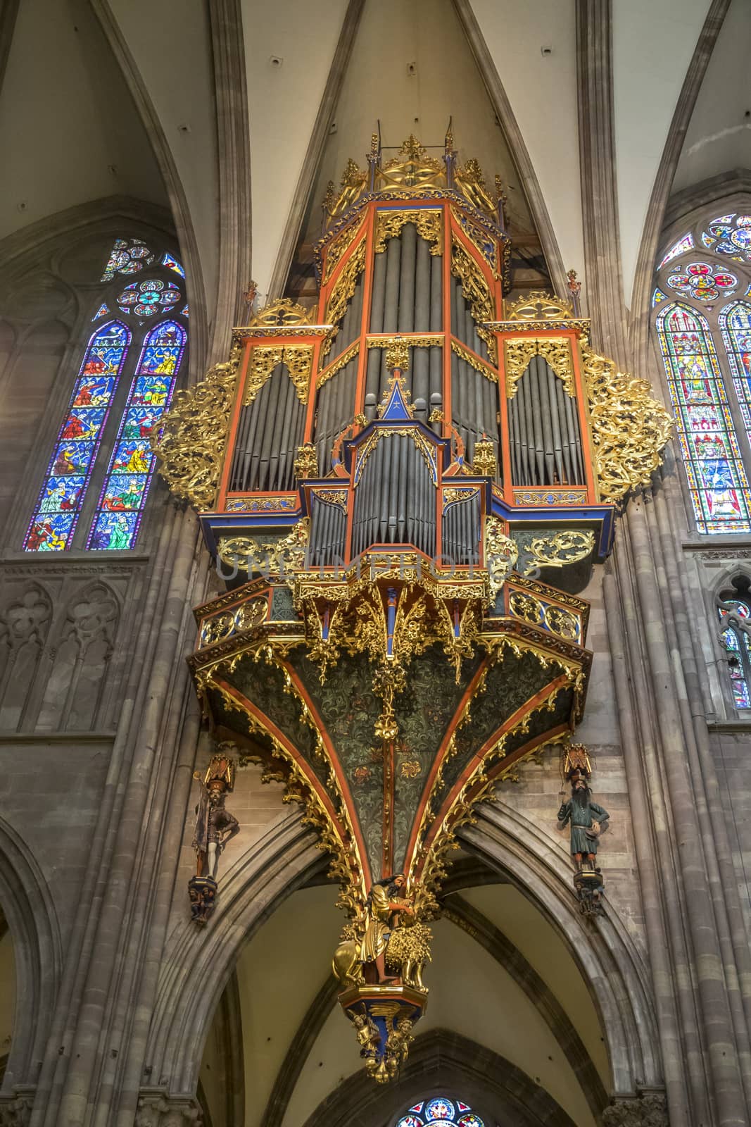
[[[618,372],[611,360],[582,348],[589,424],[600,497],[619,502],[650,483],[673,433],[670,415],[646,380]]]

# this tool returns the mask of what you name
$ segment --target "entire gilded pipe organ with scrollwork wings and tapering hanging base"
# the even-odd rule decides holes
[[[427,1003],[457,828],[582,716],[576,593],[670,423],[566,302],[504,301],[502,195],[450,135],[390,160],[374,137],[323,214],[316,309],[280,300],[235,329],[155,449],[226,579],[195,611],[205,716],[222,755],[284,780],[331,857],[340,1002],[385,1082]],[[363,955],[376,888],[412,906],[379,969]],[[599,870],[574,889],[593,911]],[[216,893],[191,878],[195,919]]]

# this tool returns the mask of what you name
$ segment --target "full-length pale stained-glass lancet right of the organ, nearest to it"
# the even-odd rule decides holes
[[[699,532],[749,532],[749,485],[708,325],[687,305],[656,321]]]

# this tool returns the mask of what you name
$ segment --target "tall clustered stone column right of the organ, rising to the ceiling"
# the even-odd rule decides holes
[[[601,348],[628,360],[613,140],[609,0],[578,0],[585,279]],[[645,375],[645,372],[638,372]],[[676,520],[683,518],[682,506]],[[749,1122],[748,951],[728,864],[703,694],[679,605],[678,530],[655,474],[632,497],[606,578],[624,760],[670,1119]],[[685,532],[685,530],[680,530]],[[656,1118],[654,1118],[656,1116]],[[618,1100],[606,1127],[667,1122],[664,1106]]]

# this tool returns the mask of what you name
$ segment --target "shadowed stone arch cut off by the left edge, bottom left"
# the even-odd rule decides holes
[[[0,818],[0,904],[16,959],[14,1040],[3,1080],[6,1091],[36,1080],[43,1059],[62,968],[57,917],[47,882],[28,846]]]

